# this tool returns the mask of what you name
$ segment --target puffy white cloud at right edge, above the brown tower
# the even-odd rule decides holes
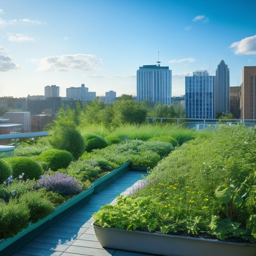
[[[235,54],[256,54],[256,35],[253,37],[245,37],[238,42],[234,42],[230,48],[233,48]]]

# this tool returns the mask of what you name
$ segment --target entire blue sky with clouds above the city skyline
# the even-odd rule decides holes
[[[44,95],[44,86],[85,84],[104,96],[136,95],[136,70],[169,66],[172,96],[185,75],[215,75],[224,60],[231,86],[256,66],[255,0],[1,0],[0,97]]]

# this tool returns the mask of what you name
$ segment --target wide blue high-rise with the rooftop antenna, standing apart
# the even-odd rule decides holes
[[[159,63],[159,61],[158,61]],[[171,70],[160,65],[144,65],[137,70],[137,100],[149,99],[171,105]]]

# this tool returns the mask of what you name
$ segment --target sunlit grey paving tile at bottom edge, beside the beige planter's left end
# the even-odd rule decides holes
[[[81,255],[90,255],[90,256],[110,256],[114,253],[113,249],[97,249],[97,248],[89,248],[83,246],[69,246],[65,253],[74,253]]]

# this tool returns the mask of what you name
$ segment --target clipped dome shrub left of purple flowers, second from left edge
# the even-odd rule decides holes
[[[11,166],[14,179],[22,175],[24,180],[37,180],[43,174],[41,165],[31,158],[12,157],[4,160]]]

